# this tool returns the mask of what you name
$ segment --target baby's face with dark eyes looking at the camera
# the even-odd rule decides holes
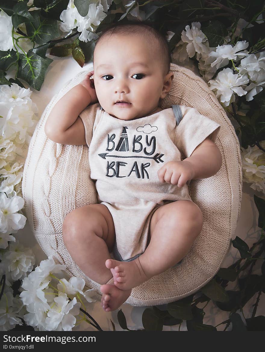
[[[102,108],[121,120],[158,110],[164,75],[157,51],[140,36],[112,35],[94,52],[94,85]],[[124,101],[126,103],[117,103]]]

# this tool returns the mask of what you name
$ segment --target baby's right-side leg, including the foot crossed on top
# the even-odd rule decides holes
[[[202,225],[202,212],[192,201],[179,200],[158,208],[150,221],[146,251],[131,262],[106,261],[116,287],[128,290],[172,268],[189,252]]]

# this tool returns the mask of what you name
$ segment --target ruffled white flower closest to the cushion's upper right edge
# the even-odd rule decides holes
[[[225,68],[218,73],[215,80],[210,80],[210,89],[215,91],[217,98],[224,106],[228,106],[235,101],[236,93],[239,96],[247,94],[247,92],[240,86],[249,82],[246,75],[240,76],[234,74],[230,68]]]

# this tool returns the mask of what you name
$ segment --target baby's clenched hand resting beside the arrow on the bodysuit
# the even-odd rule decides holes
[[[193,178],[193,166],[188,162],[170,161],[158,170],[158,178],[162,183],[167,182],[183,187]]]

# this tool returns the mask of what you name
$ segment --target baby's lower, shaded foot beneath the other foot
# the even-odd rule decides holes
[[[113,283],[113,278],[105,285],[100,286],[100,291],[103,293],[101,298],[101,306],[105,312],[111,312],[118,309],[130,296],[131,290],[120,290]]]

